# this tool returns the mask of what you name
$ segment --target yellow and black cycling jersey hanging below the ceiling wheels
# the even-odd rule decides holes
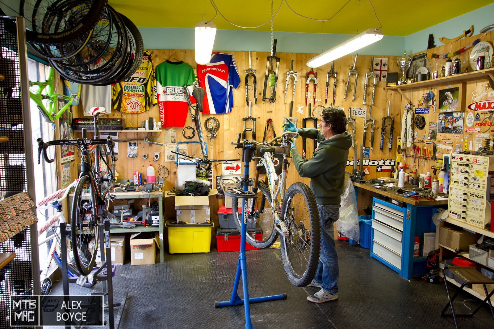
[[[124,113],[142,113],[158,103],[156,76],[150,52],[144,52],[137,71],[112,85],[112,107]]]

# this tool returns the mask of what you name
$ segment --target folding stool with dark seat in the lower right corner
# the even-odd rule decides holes
[[[459,283],[461,283],[461,286],[459,287],[455,294],[453,295],[453,298],[451,297],[450,290],[448,289],[448,280],[446,280],[446,269],[450,270],[451,273],[453,273],[455,280]],[[448,303],[444,307],[443,311],[441,312],[441,316],[453,316],[454,320],[454,326],[456,329],[458,329],[458,324],[456,323],[456,317],[473,317],[475,313],[477,313],[478,310],[482,307],[482,304],[485,303],[486,301],[489,303],[489,308],[491,309],[491,314],[494,319],[494,309],[493,305],[491,304],[491,296],[494,293],[494,289],[491,291],[491,293],[487,292],[487,287],[486,285],[493,285],[494,281],[486,277],[484,274],[480,273],[475,269],[475,267],[464,267],[464,266],[445,266],[443,268],[443,278],[444,278],[444,284],[446,286],[446,292],[448,293]],[[453,300],[456,298],[458,293],[464,288],[471,288],[472,284],[481,284],[484,286],[484,292],[486,293],[486,298],[477,306],[475,311],[472,313],[463,313],[463,314],[455,314],[454,313],[454,308],[453,308]],[[448,309],[448,306],[451,306],[451,312],[452,314],[445,314],[445,311]]]

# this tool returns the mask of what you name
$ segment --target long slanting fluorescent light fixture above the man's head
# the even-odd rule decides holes
[[[343,43],[325,51],[324,53],[317,55],[316,57],[307,61],[309,68],[317,68],[326,63],[332,62],[337,58],[353,53],[356,50],[364,48],[375,41],[382,39],[384,35],[380,29],[369,29],[361,34],[356,35]]]

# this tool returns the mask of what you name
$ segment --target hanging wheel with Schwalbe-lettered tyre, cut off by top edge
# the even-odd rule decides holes
[[[108,0],[92,0],[87,10],[74,0],[21,0],[26,38],[37,44],[63,44],[87,34],[99,21]],[[73,3],[73,5],[71,5]],[[49,23],[51,19],[59,24]]]

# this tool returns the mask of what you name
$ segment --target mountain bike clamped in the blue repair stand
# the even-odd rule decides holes
[[[297,287],[307,286],[316,273],[321,244],[319,211],[316,199],[309,186],[304,183],[293,183],[286,188],[288,173],[288,156],[290,141],[297,138],[298,133],[284,132],[269,142],[241,141],[236,145],[242,147],[244,162],[244,178],[236,188],[225,190],[232,196],[232,211],[239,230],[242,221],[255,222],[262,229],[262,237],[247,233],[247,242],[256,248],[271,246],[278,235],[281,242],[281,254],[285,272],[290,282]],[[281,146],[274,144],[282,140]],[[253,152],[262,154],[256,166],[255,177],[249,179],[249,162]],[[259,152],[259,153],[257,153]],[[283,155],[283,169],[278,176],[273,164],[273,154]],[[266,181],[259,180],[259,169],[266,169]],[[252,186],[252,192],[247,190]],[[244,198],[253,193],[256,197]],[[243,217],[239,215],[238,201],[244,199]],[[242,213],[242,212],[241,212]]]

